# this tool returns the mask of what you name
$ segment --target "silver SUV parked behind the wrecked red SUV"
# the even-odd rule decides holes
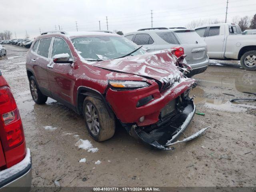
[[[204,72],[209,64],[206,43],[192,29],[140,29],[124,37],[143,45],[148,52],[183,47],[186,62],[192,67],[190,76]]]

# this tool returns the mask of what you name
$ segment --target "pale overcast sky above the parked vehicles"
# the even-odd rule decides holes
[[[68,31],[109,30],[124,33],[140,28],[186,26],[192,20],[225,21],[226,0],[1,0],[0,32],[10,30],[15,38],[31,38],[55,25]],[[255,0],[229,0],[228,22],[234,16],[256,14]]]

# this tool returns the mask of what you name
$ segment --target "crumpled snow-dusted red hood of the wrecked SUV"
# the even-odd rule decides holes
[[[164,83],[164,78],[172,79],[182,76],[182,73],[174,64],[175,61],[176,58],[172,56],[170,50],[162,50],[142,55],[96,62],[92,65],[107,70],[154,78]]]

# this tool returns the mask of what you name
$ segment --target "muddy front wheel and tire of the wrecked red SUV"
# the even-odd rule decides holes
[[[114,114],[108,113],[101,100],[87,96],[84,99],[83,113],[86,128],[95,141],[101,142],[112,138],[116,129]]]

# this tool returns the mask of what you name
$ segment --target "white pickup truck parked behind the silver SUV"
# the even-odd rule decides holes
[[[256,35],[242,35],[233,23],[209,24],[195,30],[206,42],[210,58],[240,60],[243,68],[256,70]]]

